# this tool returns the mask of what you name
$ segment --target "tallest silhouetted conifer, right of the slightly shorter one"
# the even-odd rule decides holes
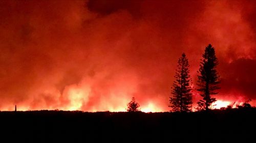
[[[205,47],[203,54],[203,59],[200,62],[200,68],[198,73],[198,89],[203,100],[197,102],[198,110],[208,110],[209,106],[217,101],[216,98],[211,97],[211,95],[218,94],[216,90],[220,89],[218,84],[220,83],[218,72],[216,66],[218,65],[218,59],[215,55],[214,47],[209,44]]]

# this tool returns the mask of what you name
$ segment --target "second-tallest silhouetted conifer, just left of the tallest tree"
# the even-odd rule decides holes
[[[172,90],[173,97],[169,98],[169,107],[172,107],[172,111],[191,111],[191,78],[188,69],[188,59],[185,53],[182,53],[181,58],[179,58],[177,67],[178,69],[176,69],[174,76],[176,80],[173,83]]]

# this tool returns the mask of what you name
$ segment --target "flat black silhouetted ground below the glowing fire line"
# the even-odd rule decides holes
[[[256,142],[255,108],[191,113],[2,111],[0,124],[0,142]]]

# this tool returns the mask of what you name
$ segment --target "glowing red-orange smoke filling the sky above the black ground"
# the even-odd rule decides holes
[[[122,111],[134,96],[143,111],[168,111],[181,53],[196,83],[209,43],[220,63],[217,100],[256,99],[254,1],[0,4],[1,110]]]

